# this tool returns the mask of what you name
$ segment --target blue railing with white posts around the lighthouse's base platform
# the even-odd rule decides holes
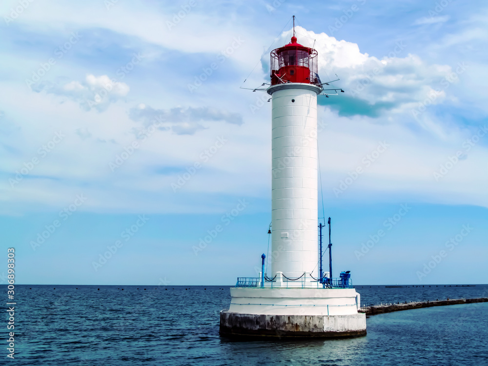
[[[296,280],[283,277],[264,277],[264,283],[260,277],[238,277],[236,287],[266,287],[266,288],[353,288],[350,278],[328,278],[315,279],[310,275],[304,275]]]

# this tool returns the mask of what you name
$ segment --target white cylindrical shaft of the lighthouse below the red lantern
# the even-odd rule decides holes
[[[318,276],[317,94],[304,83],[268,88],[272,96],[271,264],[273,277]]]

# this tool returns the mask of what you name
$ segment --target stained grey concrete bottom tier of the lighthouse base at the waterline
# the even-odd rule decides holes
[[[259,315],[222,310],[220,334],[277,338],[361,337],[366,335],[366,314]]]

